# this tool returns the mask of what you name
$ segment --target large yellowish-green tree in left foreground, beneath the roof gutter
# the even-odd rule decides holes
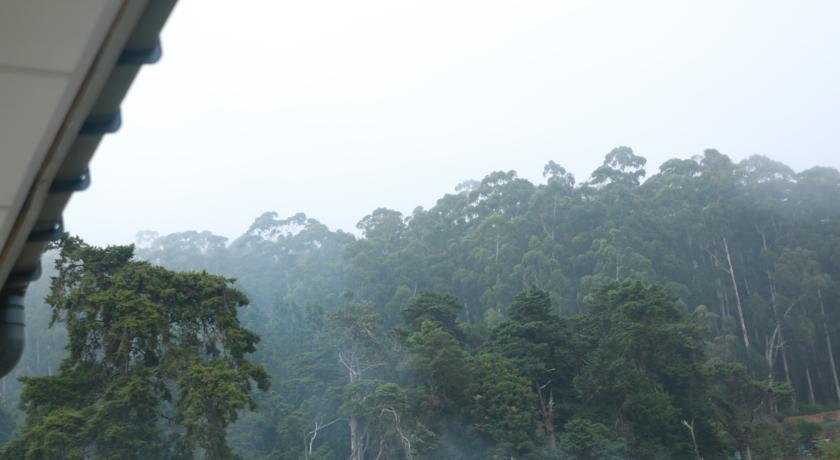
[[[233,457],[225,429],[269,382],[246,357],[259,341],[237,319],[247,298],[228,279],[132,257],[62,242],[47,301],[69,355],[55,376],[22,379],[26,423],[3,458],[160,458],[173,445]]]

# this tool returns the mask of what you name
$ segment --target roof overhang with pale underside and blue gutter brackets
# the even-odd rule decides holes
[[[67,201],[90,183],[96,147],[119,128],[128,88],[161,55],[175,3],[0,0],[0,303],[39,276]]]

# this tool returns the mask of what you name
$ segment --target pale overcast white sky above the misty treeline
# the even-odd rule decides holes
[[[242,234],[265,211],[353,230],[465,179],[627,145],[840,167],[840,2],[184,0],[66,227]]]

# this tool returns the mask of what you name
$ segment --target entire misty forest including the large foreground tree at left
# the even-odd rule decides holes
[[[645,167],[493,172],[358,234],[67,237],[0,458],[840,458],[786,422],[840,407],[840,173]]]

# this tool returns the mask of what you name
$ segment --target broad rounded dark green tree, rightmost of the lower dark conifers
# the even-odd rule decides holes
[[[634,455],[690,456],[681,422],[709,410],[700,328],[657,286],[627,281],[593,292],[588,303],[584,331],[592,351],[575,378],[582,400],[619,433],[632,433],[628,448]]]

